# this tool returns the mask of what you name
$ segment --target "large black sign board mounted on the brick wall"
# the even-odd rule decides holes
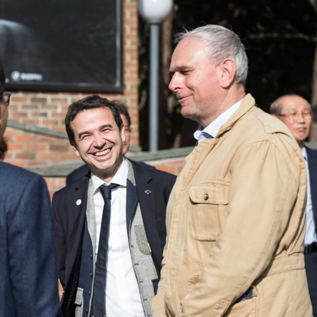
[[[6,89],[123,91],[122,0],[1,0]]]

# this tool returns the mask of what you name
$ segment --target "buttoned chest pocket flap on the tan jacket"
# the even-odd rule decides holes
[[[190,199],[195,203],[226,205],[228,193],[229,183],[222,181],[200,183],[189,189]]]

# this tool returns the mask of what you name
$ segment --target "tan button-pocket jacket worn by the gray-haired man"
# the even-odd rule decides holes
[[[186,160],[153,317],[312,317],[305,162],[288,128],[247,95]],[[234,304],[250,287],[252,299]]]

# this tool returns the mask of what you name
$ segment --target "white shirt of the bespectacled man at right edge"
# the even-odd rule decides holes
[[[302,147],[302,154],[305,159],[306,173],[307,173],[307,202],[306,202],[306,235],[305,246],[317,242],[316,227],[313,212],[311,181],[309,176],[308,156],[305,146]]]

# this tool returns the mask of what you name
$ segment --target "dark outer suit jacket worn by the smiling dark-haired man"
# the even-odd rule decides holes
[[[141,166],[133,161],[131,163],[144,227],[159,275],[166,240],[166,205],[176,176]],[[74,316],[73,302],[80,269],[89,175],[90,173],[53,195],[57,264],[59,280],[64,287],[61,302],[64,317]],[[151,193],[145,193],[146,190],[150,190]],[[79,206],[76,205],[78,199],[82,201]]]

